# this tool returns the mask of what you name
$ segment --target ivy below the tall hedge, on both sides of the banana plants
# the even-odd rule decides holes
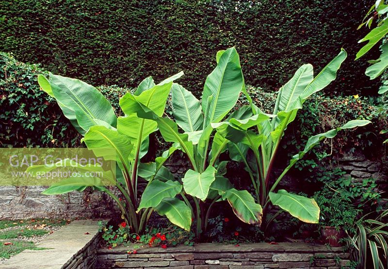
[[[4,70],[0,73],[1,147],[81,146],[81,136],[62,114],[55,100],[39,88],[36,76],[47,74],[47,71],[37,64],[20,63],[7,53],[0,53],[0,68]],[[118,105],[120,97],[134,90],[117,86],[98,86],[97,89],[112,103],[117,115],[121,114]],[[253,86],[247,86],[247,91],[260,109],[272,113],[275,94]],[[388,129],[388,110],[384,103],[375,103],[354,96],[330,98],[313,95],[286,132],[289,136],[284,139],[287,142],[284,145],[286,151],[294,154],[300,148],[294,148],[293,145],[303,145],[309,136],[356,118],[372,119],[373,126],[337,136],[333,143],[334,150],[341,153],[342,149],[366,148],[371,145],[380,147],[384,137],[378,133],[381,129]],[[237,106],[243,104],[247,104],[247,101],[242,95]],[[166,113],[170,116],[172,114],[168,105]],[[157,140],[153,141],[157,143]],[[163,145],[151,146],[160,149]]]

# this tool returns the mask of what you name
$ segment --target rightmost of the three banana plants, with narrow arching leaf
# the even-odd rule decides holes
[[[339,130],[370,123],[365,120],[353,120],[341,127],[310,137],[305,149],[294,155],[283,172],[277,178],[273,178],[276,153],[287,126],[295,119],[297,112],[302,109],[303,103],[310,95],[321,91],[336,78],[337,70],[346,56],[345,50],[341,49],[315,78],[312,65],[302,65],[292,79],[279,89],[272,116],[260,111],[242,88],[250,105],[239,110],[240,118],[231,117],[226,122],[211,124],[217,129],[216,136],[228,141],[230,158],[245,164],[255,189],[255,200],[263,208],[261,227],[263,231],[282,211],[289,212],[303,222],[318,223],[320,208],[314,199],[289,193],[287,190],[275,192],[276,187],[293,165],[320,141],[333,138]],[[258,121],[259,118],[263,120]],[[269,209],[274,206],[281,209],[275,214],[268,214]]]

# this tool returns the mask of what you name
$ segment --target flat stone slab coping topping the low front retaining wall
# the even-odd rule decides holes
[[[134,248],[131,247],[117,247],[111,250],[99,249],[98,254],[122,254],[127,253],[129,250]],[[231,244],[217,244],[217,243],[200,243],[194,244],[189,247],[185,245],[179,245],[177,247],[171,247],[162,249],[161,247],[142,248],[137,249],[137,253],[169,253],[169,252],[185,252],[185,253],[242,253],[242,252],[271,252],[271,253],[343,253],[342,247],[334,248],[319,244],[309,244],[304,242],[283,242],[278,244],[269,243],[246,243],[240,244],[239,247]],[[136,254],[132,254],[133,257]]]

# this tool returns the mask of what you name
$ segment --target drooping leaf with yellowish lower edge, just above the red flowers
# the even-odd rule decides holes
[[[164,198],[162,202],[155,207],[155,209],[159,215],[165,215],[173,224],[185,229],[186,231],[190,231],[192,213],[185,202],[180,201],[177,197]]]

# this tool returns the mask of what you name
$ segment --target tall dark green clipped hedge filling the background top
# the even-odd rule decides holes
[[[349,57],[327,91],[366,94],[376,83],[354,59],[371,2],[0,1],[0,51],[93,85],[133,87],[183,70],[180,82],[200,95],[219,49],[236,46],[247,83],[273,91],[301,64],[318,71],[344,47]]]

